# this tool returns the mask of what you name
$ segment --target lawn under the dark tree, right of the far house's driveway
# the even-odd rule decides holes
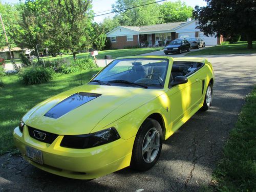
[[[256,53],[256,41],[253,41],[253,49],[247,49],[247,41],[239,41],[236,44],[218,45],[190,52],[186,55],[221,55],[221,54],[245,54]]]

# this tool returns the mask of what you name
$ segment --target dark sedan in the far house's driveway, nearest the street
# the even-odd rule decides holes
[[[186,39],[173,40],[168,46],[163,49],[165,55],[168,53],[182,53],[182,51],[190,51],[190,44]]]

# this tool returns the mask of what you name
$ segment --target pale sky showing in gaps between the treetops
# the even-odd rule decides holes
[[[191,7],[195,7],[198,5],[199,7],[206,6],[206,2],[203,0],[181,0],[182,2],[185,2],[187,5]],[[2,3],[17,3],[19,0],[2,0]],[[103,13],[109,13],[111,12],[111,5],[114,4],[116,0],[93,0],[93,10],[95,13],[103,14]],[[167,0],[167,2],[176,2],[176,0]],[[162,3],[162,2],[161,2]],[[103,12],[106,11],[106,12]],[[102,12],[102,13],[99,13]],[[96,14],[97,15],[97,14]],[[112,17],[114,16],[114,13],[97,16],[94,17],[95,22],[100,23],[105,17]]]

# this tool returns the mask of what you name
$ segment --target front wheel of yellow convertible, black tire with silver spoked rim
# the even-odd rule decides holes
[[[151,135],[152,137],[154,137],[153,133],[155,133],[156,138],[154,140],[147,139],[147,138],[151,138],[150,137],[151,131],[152,131],[152,135]],[[155,119],[147,118],[141,125],[134,141],[133,155],[131,160],[131,167],[133,169],[140,170],[140,171],[148,170],[156,164],[162,150],[162,137],[163,137],[163,133],[162,133],[161,125],[159,124],[159,122],[156,121]],[[155,146],[159,147],[158,150],[155,149]],[[147,154],[143,153],[143,147],[145,147],[145,151],[148,149],[150,152],[146,152]],[[148,162],[146,162],[147,155],[148,156],[153,155],[152,159],[148,158],[148,160],[150,160]]]

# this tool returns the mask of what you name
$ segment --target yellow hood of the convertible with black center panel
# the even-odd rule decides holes
[[[86,84],[42,101],[23,121],[35,129],[58,135],[88,134],[103,119],[102,128],[162,93],[161,90]]]

